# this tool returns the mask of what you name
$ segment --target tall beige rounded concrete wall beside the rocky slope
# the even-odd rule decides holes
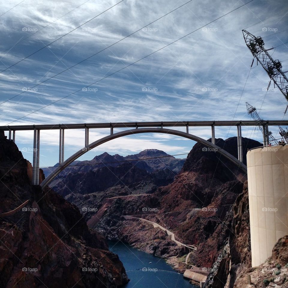
[[[288,234],[288,145],[247,153],[252,267],[272,255]]]

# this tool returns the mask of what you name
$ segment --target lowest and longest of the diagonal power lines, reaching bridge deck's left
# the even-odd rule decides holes
[[[145,59],[145,58],[147,58],[147,57],[149,57],[149,56],[155,54],[156,52],[158,52],[158,51],[160,51],[160,50],[162,50],[162,49],[164,49],[164,48],[166,48],[166,47],[168,47],[168,46],[170,46],[170,45],[176,43],[177,41],[179,41],[179,40],[181,40],[181,39],[187,37],[188,35],[191,35],[192,33],[198,31],[199,29],[201,29],[201,28],[203,28],[203,27],[205,27],[205,26],[207,26],[207,25],[209,25],[209,24],[211,24],[211,23],[213,23],[213,22],[215,22],[216,20],[218,20],[218,19],[220,19],[220,18],[223,18],[224,16],[228,15],[229,13],[232,13],[233,11],[235,11],[235,10],[237,10],[237,9],[239,9],[239,8],[241,8],[241,7],[245,6],[245,5],[247,5],[247,4],[249,4],[249,3],[252,2],[252,1],[254,1],[254,0],[250,0],[249,2],[247,2],[247,3],[243,4],[243,5],[241,5],[241,6],[237,7],[237,8],[235,8],[235,9],[233,9],[233,10],[231,10],[231,11],[229,11],[228,13],[226,13],[226,14],[224,14],[224,15],[222,15],[222,16],[216,18],[216,19],[214,19],[213,21],[211,21],[211,22],[209,22],[209,23],[207,23],[207,24],[205,24],[205,25],[203,25],[203,26],[197,28],[196,30],[194,30],[194,31],[192,31],[192,32],[190,32],[190,33],[188,33],[188,34],[186,34],[186,35],[184,35],[184,36],[182,36],[181,38],[179,38],[179,39],[177,39],[177,40],[175,40],[175,41],[173,41],[173,42],[171,42],[171,43],[169,43],[169,44],[163,46],[162,48],[160,48],[160,49],[158,49],[158,50],[156,50],[156,51],[154,51],[154,52],[152,52],[152,53],[150,53],[150,54],[144,56],[143,58],[141,58],[141,59],[139,59],[139,60],[137,60],[137,61],[135,61],[135,62],[133,62],[133,63],[131,63],[131,64],[129,64],[129,65],[127,65],[127,66],[125,66],[125,67],[123,67],[123,68],[121,68],[121,69],[119,69],[119,70],[117,70],[117,71],[115,71],[115,72],[113,72],[113,73],[111,73],[111,74],[105,76],[105,77],[103,77],[103,78],[101,78],[100,80],[98,80],[98,81],[96,81],[96,82],[93,82],[93,83],[91,83],[91,84],[89,84],[89,85],[83,87],[83,88],[88,88],[89,86],[94,85],[94,84],[100,82],[101,80],[106,79],[106,78],[108,78],[108,77],[110,77],[110,76],[112,76],[112,75],[114,75],[114,74],[116,74],[116,73],[118,73],[118,72],[124,70],[124,69],[127,68],[127,67],[130,67],[131,65],[133,65],[133,64],[135,64],[135,63],[137,63],[137,62],[139,62],[139,61],[141,61],[141,60],[143,60],[143,59]],[[71,96],[71,95],[73,95],[73,94],[75,94],[75,93],[81,91],[83,88],[81,88],[81,89],[79,89],[79,90],[77,90],[77,91],[75,91],[75,92],[73,92],[73,93],[71,93],[71,94],[69,94],[69,95],[67,95],[67,96],[64,96],[64,97],[62,97],[62,98],[60,98],[60,99],[58,99],[58,100],[56,100],[56,101],[54,101],[54,102],[52,102],[52,103],[50,103],[50,104],[47,104],[46,106],[44,106],[44,107],[42,107],[42,108],[39,108],[39,109],[37,109],[37,110],[35,110],[35,111],[33,111],[33,112],[31,112],[31,113],[25,115],[25,116],[22,116],[21,118],[16,119],[16,120],[14,120],[14,121],[12,121],[12,122],[6,124],[6,125],[9,125],[9,124],[11,124],[11,123],[13,123],[13,122],[16,122],[16,121],[18,121],[18,120],[20,120],[20,119],[23,119],[23,118],[26,117],[26,116],[29,116],[29,115],[31,115],[31,114],[33,114],[33,113],[35,113],[35,112],[38,112],[39,110],[42,110],[42,109],[44,109],[44,108],[46,108],[46,107],[48,107],[48,106],[50,106],[50,105],[52,105],[52,104],[54,104],[54,103],[56,103],[56,102],[62,100],[62,99],[64,99],[64,98],[67,98],[67,97],[69,97],[69,96]]]

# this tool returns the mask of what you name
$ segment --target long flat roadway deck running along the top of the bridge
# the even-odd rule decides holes
[[[264,120],[264,124],[277,126],[288,125],[286,120]],[[253,120],[244,121],[163,121],[163,122],[110,122],[110,123],[80,123],[80,124],[49,124],[49,125],[12,125],[0,126],[0,131],[20,130],[51,130],[51,129],[85,129],[85,128],[143,128],[143,127],[187,127],[187,126],[255,126]]]

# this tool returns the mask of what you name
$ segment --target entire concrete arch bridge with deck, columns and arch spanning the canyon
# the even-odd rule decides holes
[[[288,121],[264,121],[265,127],[268,129],[268,125],[288,125]],[[15,142],[16,131],[34,131],[34,145],[33,145],[33,173],[32,184],[39,184],[39,163],[40,163],[40,132],[41,130],[59,130],[59,166],[46,177],[41,183],[41,187],[46,187],[65,167],[85,154],[89,150],[106,143],[110,140],[124,137],[128,135],[140,134],[140,133],[165,133],[184,137],[196,142],[202,143],[206,147],[215,149],[217,153],[220,153],[226,157],[229,161],[237,165],[244,173],[247,173],[247,167],[243,164],[242,155],[242,137],[241,126],[256,126],[255,121],[178,121],[178,122],[116,122],[116,123],[90,123],[90,124],[56,124],[56,125],[18,125],[18,126],[0,126],[0,131],[9,131],[9,140]],[[211,139],[212,142],[208,142],[200,137],[197,137],[189,133],[189,127],[211,127]],[[237,127],[238,138],[238,159],[215,145],[215,126],[235,126]],[[167,127],[167,128],[165,128]],[[176,130],[178,127],[186,127],[186,132]],[[110,128],[110,135],[103,137],[93,143],[89,143],[89,129]],[[128,130],[113,133],[113,128],[128,128]],[[129,129],[132,128],[132,129]],[[169,129],[168,129],[169,128]],[[171,129],[173,128],[173,129]],[[85,129],[84,146],[81,150],[71,155],[64,160],[64,131],[66,129]],[[267,145],[264,139],[264,145]]]

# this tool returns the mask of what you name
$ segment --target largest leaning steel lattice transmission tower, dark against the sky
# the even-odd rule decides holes
[[[254,58],[257,59],[257,65],[259,62],[262,65],[262,67],[265,69],[268,76],[270,77],[270,82],[269,82],[267,90],[270,87],[271,80],[273,80],[274,87],[276,85],[281,91],[281,93],[284,95],[286,100],[288,101],[288,79],[286,75],[284,74],[288,71],[283,72],[281,70],[282,68],[281,62],[278,59],[274,60],[268,53],[269,50],[274,49],[274,48],[266,50],[264,48],[264,41],[261,37],[256,37],[246,30],[242,30],[242,32],[243,32],[244,40],[246,42],[248,49],[251,51]],[[253,65],[253,62],[252,62],[252,65]],[[287,108],[286,108],[286,111],[287,111]]]

